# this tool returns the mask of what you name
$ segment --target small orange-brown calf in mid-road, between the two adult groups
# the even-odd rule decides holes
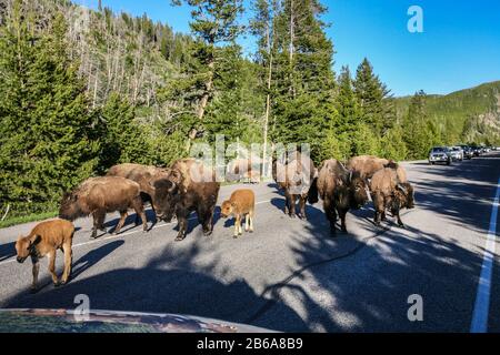
[[[244,189],[237,190],[229,200],[222,202],[221,215],[228,217],[234,216],[234,237],[243,234],[241,220],[244,216],[244,231],[253,232],[253,215],[256,210],[256,195],[253,191]]]

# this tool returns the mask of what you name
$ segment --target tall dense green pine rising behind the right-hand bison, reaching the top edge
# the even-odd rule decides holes
[[[317,0],[286,0],[276,22],[273,139],[310,143],[318,161],[334,110],[333,45]]]

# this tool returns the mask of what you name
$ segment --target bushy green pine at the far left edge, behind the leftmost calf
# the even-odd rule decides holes
[[[44,31],[36,22],[17,0],[0,36],[0,200],[22,213],[54,207],[92,174],[99,149],[64,19]]]

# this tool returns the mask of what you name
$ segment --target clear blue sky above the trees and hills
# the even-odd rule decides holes
[[[97,0],[76,0],[97,8]],[[147,13],[177,31],[189,32],[190,10],[170,0],[102,0],[114,11]],[[323,0],[323,20],[333,41],[334,70],[356,70],[367,57],[396,95],[449,93],[500,80],[499,0]],[[244,0],[249,8],[250,0]],[[410,33],[410,6],[423,10],[423,33]],[[248,13],[246,14],[248,17]],[[241,19],[243,22],[246,19]],[[247,53],[253,39],[242,39]]]

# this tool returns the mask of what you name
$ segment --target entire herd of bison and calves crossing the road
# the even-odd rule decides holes
[[[243,173],[253,178],[250,165],[239,166],[243,166]],[[248,171],[244,171],[246,166]],[[347,232],[347,212],[363,206],[369,201],[369,194],[373,201],[376,225],[386,219],[386,211],[390,211],[398,224],[403,226],[400,210],[413,207],[413,189],[408,182],[404,169],[391,160],[372,155],[351,158],[346,164],[330,159],[317,169],[309,156],[296,153],[287,159],[274,159],[272,176],[284,194],[284,213],[290,217],[297,215],[297,201],[298,215],[306,219],[306,203],[317,203],[321,197],[332,234],[336,233],[338,216],[341,230]],[[151,204],[156,219],[170,222],[173,216],[177,217],[179,233],[176,241],[186,237],[188,216],[192,211],[197,212],[203,234],[210,235],[219,189],[220,183],[216,181],[214,171],[194,159],[178,160],[170,168],[131,163],[114,165],[106,176],[90,178],[66,193],[60,205],[60,219],[39,223],[28,236],[21,236],[17,241],[17,260],[22,263],[31,257],[32,291],[37,290],[39,260],[43,256],[49,257],[49,272],[53,284],[64,284],[71,273],[71,241],[74,227],[70,221],[92,215],[91,236],[97,237],[98,230],[104,231],[107,213],[120,213],[113,232],[119,233],[127,220],[127,212],[133,210],[136,223],[140,219],[146,232],[147,202]],[[252,190],[234,191],[231,197],[222,203],[221,215],[234,216],[234,237],[242,234],[242,219],[246,219],[246,231],[252,232]],[[64,272],[60,280],[54,272],[57,250],[64,253]]]

